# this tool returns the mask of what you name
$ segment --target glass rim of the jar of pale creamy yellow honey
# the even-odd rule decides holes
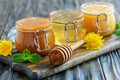
[[[96,13],[94,13],[94,12],[92,12],[92,11],[88,11],[88,10],[85,10],[85,8],[86,8],[86,6],[90,6],[90,5],[106,5],[106,6],[108,6],[108,9],[106,9],[106,10],[103,10],[103,11],[99,11],[99,12],[96,12]],[[99,14],[103,14],[103,13],[105,13],[105,14],[111,14],[111,13],[113,13],[114,12],[114,6],[111,4],[111,3],[109,3],[109,2],[88,2],[88,3],[85,3],[85,4],[82,4],[81,5],[81,11],[84,13],[84,14],[90,14],[90,15],[99,15]]]

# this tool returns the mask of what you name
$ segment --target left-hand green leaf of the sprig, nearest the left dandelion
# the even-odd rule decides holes
[[[12,61],[13,62],[24,62],[27,59],[24,57],[22,53],[16,53],[12,56]]]

